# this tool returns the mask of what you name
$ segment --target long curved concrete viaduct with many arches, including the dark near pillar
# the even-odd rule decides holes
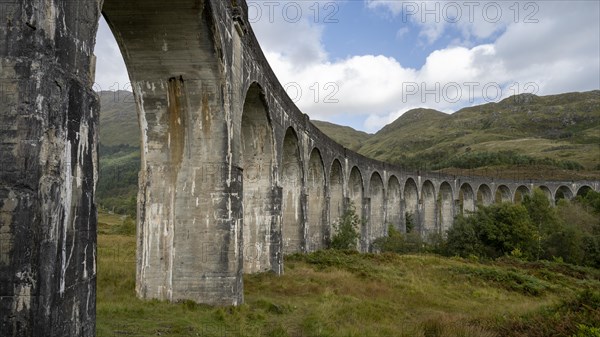
[[[243,301],[243,273],[324,247],[350,202],[361,249],[404,228],[441,232],[477,203],[534,187],[554,200],[598,181],[403,172],[336,144],[292,103],[243,0],[8,0],[0,4],[0,331],[95,334],[100,15],[137,101],[139,297]]]

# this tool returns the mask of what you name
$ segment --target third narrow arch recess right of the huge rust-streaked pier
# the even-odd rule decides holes
[[[324,248],[325,229],[325,169],[319,149],[314,148],[308,162],[307,194],[307,251]]]

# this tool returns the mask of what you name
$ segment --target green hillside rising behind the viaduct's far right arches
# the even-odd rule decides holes
[[[348,136],[340,136],[340,128],[329,125],[321,130],[357,148],[355,142],[345,141]],[[523,94],[451,115],[415,109],[361,143],[359,153],[409,168],[529,164],[598,170],[600,91]]]

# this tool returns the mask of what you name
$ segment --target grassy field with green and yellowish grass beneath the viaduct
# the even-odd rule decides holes
[[[142,301],[135,237],[115,234],[131,233],[125,220],[99,217],[99,337],[571,336],[578,324],[600,327],[598,270],[435,255],[295,255],[283,276],[245,276],[239,307]]]

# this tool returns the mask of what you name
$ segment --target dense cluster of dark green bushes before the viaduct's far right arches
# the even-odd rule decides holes
[[[561,201],[553,207],[535,189],[521,205],[480,205],[475,213],[455,219],[445,253],[491,259],[510,255],[599,267],[600,220],[588,211],[589,203],[581,202]]]

